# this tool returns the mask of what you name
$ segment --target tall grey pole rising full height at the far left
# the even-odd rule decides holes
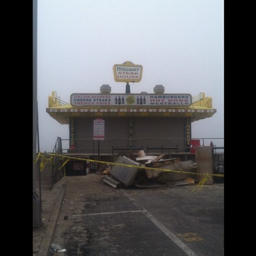
[[[35,188],[37,117],[37,0],[33,0],[33,228],[42,225],[41,202]]]

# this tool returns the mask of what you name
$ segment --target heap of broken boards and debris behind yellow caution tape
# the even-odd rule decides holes
[[[108,166],[102,174],[103,181],[112,187],[120,188],[177,186],[194,184],[197,172],[196,163],[180,158],[164,159],[165,155],[146,156],[141,150],[137,157],[131,152],[118,156],[115,164]]]

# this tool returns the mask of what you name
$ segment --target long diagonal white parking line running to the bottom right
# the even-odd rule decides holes
[[[191,250],[186,244],[184,244],[175,234],[166,228],[161,222],[159,222],[150,212],[148,212],[141,204],[139,204],[132,196],[126,193],[125,190],[120,189],[122,193],[129,198],[141,211],[143,214],[150,219],[163,233],[166,234],[175,244],[177,244],[187,255],[197,256],[197,254]]]

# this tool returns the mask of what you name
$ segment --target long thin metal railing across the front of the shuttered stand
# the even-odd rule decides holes
[[[224,153],[224,138],[191,138],[192,140],[200,140],[200,146],[210,146],[210,142],[214,142],[212,147],[214,153]],[[71,139],[61,139],[57,138],[53,153],[62,155],[63,153],[88,153],[88,154],[98,154],[108,153],[113,155],[115,150],[136,150],[138,148],[144,149],[148,152],[190,152],[190,147],[186,147],[185,138],[136,138],[132,139],[104,139],[100,141],[94,139],[72,139],[75,141],[76,147],[70,147]],[[178,143],[177,143],[178,142]]]

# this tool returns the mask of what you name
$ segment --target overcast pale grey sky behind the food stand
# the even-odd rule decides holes
[[[193,138],[224,138],[224,0],[38,0],[37,92],[40,151],[51,152],[68,125],[46,113],[56,91],[125,93],[113,66],[143,66],[131,93],[204,92],[217,113],[192,123]],[[214,144],[223,145],[223,140]]]

